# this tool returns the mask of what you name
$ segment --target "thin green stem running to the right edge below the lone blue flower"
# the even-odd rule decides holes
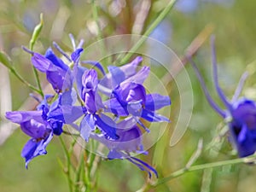
[[[227,165],[235,165],[235,164],[240,164],[240,163],[250,163],[255,161],[256,155],[253,155],[251,157],[246,157],[246,158],[239,158],[235,160],[222,160],[218,162],[213,162],[213,163],[207,163],[207,164],[202,164],[202,165],[197,165],[197,166],[190,166],[189,168],[182,168],[178,170],[177,172],[172,172],[171,175],[160,178],[157,183],[154,184],[154,186],[158,186],[162,183],[166,183],[172,178],[179,177],[183,175],[185,172],[195,172],[195,171],[200,171],[204,169],[209,169],[209,168],[214,168],[218,166],[227,166]]]

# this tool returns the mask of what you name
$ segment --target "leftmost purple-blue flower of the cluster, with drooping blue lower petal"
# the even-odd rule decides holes
[[[24,146],[21,156],[28,163],[38,155],[47,154],[46,147],[53,138],[53,135],[61,135],[62,126],[65,123],[63,113],[60,108],[60,100],[56,100],[51,106],[48,99],[52,96],[45,96],[38,105],[37,111],[14,111],[7,112],[6,118],[16,124],[20,124],[20,129],[29,137],[32,137]],[[53,118],[55,114],[55,118]]]

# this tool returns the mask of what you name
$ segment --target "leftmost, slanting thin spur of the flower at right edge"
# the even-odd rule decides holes
[[[191,58],[188,58],[189,62],[191,63],[192,67],[194,68],[195,70],[195,74],[197,76],[197,79],[199,79],[199,82],[201,84],[201,88],[204,92],[204,94],[206,95],[207,97],[207,101],[209,102],[209,104],[212,106],[212,108],[217,112],[219,113],[223,118],[226,117],[226,114],[224,113],[224,110],[219,108],[218,105],[216,104],[216,102],[214,102],[212,100],[212,96],[210,96],[209,94],[209,91],[207,90],[207,86],[204,82],[204,80],[202,79],[201,77],[201,73],[199,72],[198,68],[196,67],[195,65],[195,62],[191,59]]]

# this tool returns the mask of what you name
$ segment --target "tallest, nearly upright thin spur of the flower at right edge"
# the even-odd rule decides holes
[[[220,97],[221,101],[224,102],[224,105],[228,109],[232,109],[230,102],[227,100],[224,92],[220,89],[218,84],[218,68],[217,68],[217,61],[216,61],[216,50],[215,50],[215,37],[212,36],[211,38],[211,46],[212,46],[212,68],[213,68],[213,81],[215,85],[215,89],[217,90],[218,96]]]

